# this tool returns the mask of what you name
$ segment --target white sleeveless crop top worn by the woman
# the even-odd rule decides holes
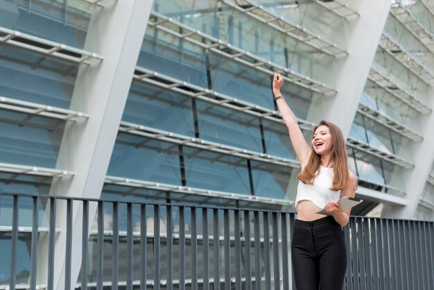
[[[300,201],[311,201],[317,207],[324,207],[329,201],[338,201],[340,190],[331,190],[333,185],[333,168],[320,167],[320,174],[313,180],[313,185],[298,182],[295,208]]]

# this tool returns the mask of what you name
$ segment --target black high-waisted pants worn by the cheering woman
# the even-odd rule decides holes
[[[297,290],[342,289],[347,252],[344,233],[333,216],[295,220],[291,253]]]

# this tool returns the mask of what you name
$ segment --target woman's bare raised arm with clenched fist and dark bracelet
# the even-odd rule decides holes
[[[304,164],[306,164],[309,154],[311,153],[311,148],[309,148],[306,139],[304,139],[302,130],[298,126],[297,117],[295,117],[295,114],[289,108],[284,97],[280,93],[280,88],[283,83],[284,79],[281,75],[275,74],[275,77],[272,80],[272,92],[275,95],[275,100],[279,107],[281,117],[284,119],[286,127],[288,127],[289,138],[291,144],[293,144],[295,154],[297,155],[298,160],[300,160],[302,167],[304,167]]]

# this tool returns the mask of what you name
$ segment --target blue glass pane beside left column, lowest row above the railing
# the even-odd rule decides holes
[[[176,144],[119,133],[107,175],[181,185]]]

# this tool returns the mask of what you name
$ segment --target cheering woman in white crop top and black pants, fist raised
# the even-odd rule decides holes
[[[280,93],[283,83],[280,74],[275,74],[273,94],[302,165],[297,176],[297,219],[291,246],[295,285],[297,290],[340,290],[347,266],[342,227],[349,221],[350,210],[342,212],[336,201],[354,197],[356,178],[347,167],[342,131],[333,123],[321,121],[315,127],[309,148],[295,114]],[[322,207],[329,216],[315,213]]]

